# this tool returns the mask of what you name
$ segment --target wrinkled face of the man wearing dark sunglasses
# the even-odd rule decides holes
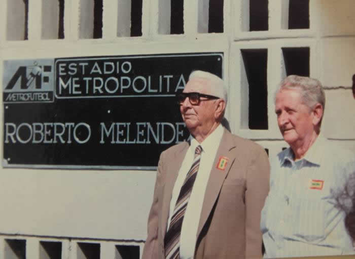
[[[194,77],[188,81],[183,91],[184,93],[197,92],[200,94],[214,95],[211,91],[210,83],[205,78]],[[201,97],[198,105],[191,105],[189,98],[180,105],[180,112],[190,133],[208,132],[216,122],[215,102]]]

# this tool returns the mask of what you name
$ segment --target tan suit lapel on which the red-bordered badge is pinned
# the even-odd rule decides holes
[[[222,140],[218,148],[216,158],[212,165],[212,169],[208,178],[207,187],[206,187],[203,205],[202,205],[201,217],[197,229],[197,236],[200,235],[201,230],[207,221],[208,215],[211,212],[212,207],[214,206],[217,200],[224,179],[227,177],[231,165],[234,162],[235,157],[229,156],[229,151],[235,147],[235,145],[232,143],[233,140],[231,138],[231,134],[226,130],[224,130],[224,134],[222,136]],[[217,168],[217,164],[220,160],[220,157],[228,158],[227,166],[224,168],[224,170]]]

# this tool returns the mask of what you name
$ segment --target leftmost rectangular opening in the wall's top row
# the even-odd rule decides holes
[[[28,0],[7,0],[7,40],[28,39]]]

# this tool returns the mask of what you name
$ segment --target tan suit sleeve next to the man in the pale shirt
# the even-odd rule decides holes
[[[262,258],[261,210],[269,192],[270,164],[268,156],[260,149],[248,165],[245,191],[246,258]]]

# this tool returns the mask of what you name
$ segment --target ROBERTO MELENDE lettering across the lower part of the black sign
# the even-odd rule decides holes
[[[184,138],[184,122],[112,122],[99,124],[99,143],[177,144]],[[92,141],[91,127],[85,122],[5,123],[5,143],[85,144]]]

